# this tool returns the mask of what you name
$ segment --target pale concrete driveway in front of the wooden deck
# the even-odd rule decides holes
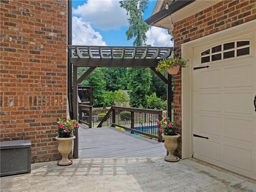
[[[256,192],[256,181],[194,159],[74,159],[31,165],[30,174],[0,178],[1,192]]]

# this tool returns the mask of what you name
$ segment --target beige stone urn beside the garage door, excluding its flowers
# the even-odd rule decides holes
[[[174,151],[178,148],[177,140],[180,137],[180,134],[177,134],[177,135],[162,134],[162,137],[164,138],[164,147],[168,151],[168,156],[166,156],[164,160],[169,162],[176,162],[180,160],[180,158],[174,156]]]

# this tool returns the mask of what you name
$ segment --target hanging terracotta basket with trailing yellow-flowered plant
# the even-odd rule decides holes
[[[158,62],[157,71],[164,71],[167,69],[169,74],[177,74],[180,67],[188,68],[188,60],[183,58],[164,58]]]

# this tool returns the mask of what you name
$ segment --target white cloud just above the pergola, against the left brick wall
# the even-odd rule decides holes
[[[72,17],[72,45],[106,46],[99,32],[82,18]]]

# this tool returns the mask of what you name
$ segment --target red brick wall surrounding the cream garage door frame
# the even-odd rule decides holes
[[[198,12],[174,24],[174,46],[176,57],[181,56],[181,44],[231,28],[256,19],[255,0],[220,1],[212,7]],[[174,76],[174,120],[181,134],[181,71]],[[177,156],[181,157],[181,138]]]

